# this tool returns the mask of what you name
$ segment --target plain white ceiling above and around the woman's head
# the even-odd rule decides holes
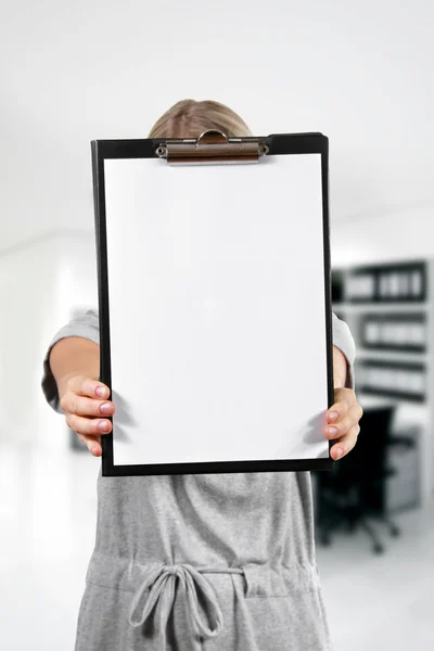
[[[0,251],[93,228],[90,140],[143,138],[179,99],[253,131],[330,138],[332,219],[434,208],[433,3],[9,3]]]

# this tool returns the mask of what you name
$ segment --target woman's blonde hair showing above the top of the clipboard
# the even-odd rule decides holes
[[[212,100],[181,100],[156,120],[148,138],[199,138],[208,129],[218,129],[231,138],[253,136],[229,106]]]

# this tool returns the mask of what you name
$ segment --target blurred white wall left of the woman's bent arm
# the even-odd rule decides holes
[[[97,307],[97,299],[91,232],[59,233],[0,256],[0,439],[67,446],[62,417],[41,392],[42,359],[72,310]]]

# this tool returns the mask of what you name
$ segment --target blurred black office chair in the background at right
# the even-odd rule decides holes
[[[382,553],[384,546],[369,522],[375,519],[388,527],[392,536],[400,532],[386,515],[386,480],[396,471],[387,465],[387,447],[413,442],[405,436],[392,436],[391,423],[395,407],[375,407],[363,411],[355,448],[331,471],[317,472],[317,532],[322,545],[330,545],[331,532],[340,526],[354,532],[366,531],[373,551]]]

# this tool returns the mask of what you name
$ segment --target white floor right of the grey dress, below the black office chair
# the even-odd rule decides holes
[[[317,548],[335,651],[434,651],[434,502],[393,520],[382,556],[363,532]]]

